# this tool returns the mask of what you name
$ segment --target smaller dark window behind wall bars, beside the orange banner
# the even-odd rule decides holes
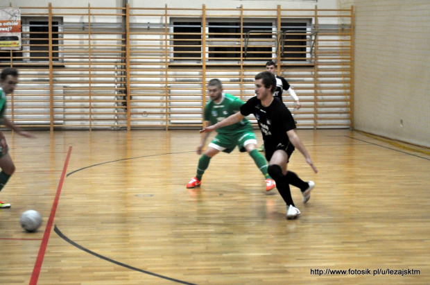
[[[22,17],[22,50],[12,51],[13,62],[49,62],[48,24],[45,17]],[[53,17],[52,32],[53,61],[59,62],[58,57],[62,49],[58,46],[60,44],[59,32],[62,32],[61,17]],[[0,61],[10,61],[10,51],[0,51]]]

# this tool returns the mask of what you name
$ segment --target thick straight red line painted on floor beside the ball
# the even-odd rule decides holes
[[[42,268],[43,259],[46,252],[46,247],[49,241],[49,235],[51,234],[51,229],[53,225],[53,220],[55,218],[55,211],[57,211],[58,200],[60,200],[60,193],[62,189],[62,183],[66,177],[67,164],[69,164],[71,154],[71,146],[69,147],[69,152],[67,153],[65,166],[62,169],[60,182],[58,182],[57,193],[55,194],[55,198],[53,201],[53,205],[51,208],[51,215],[49,215],[48,223],[46,224],[45,233],[43,235],[42,243],[40,244],[39,254],[37,254],[37,259],[35,263],[35,267],[33,268],[33,274],[31,275],[30,285],[36,285],[37,279],[39,279],[40,269]]]

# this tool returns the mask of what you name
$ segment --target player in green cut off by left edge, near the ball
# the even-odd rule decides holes
[[[6,94],[13,93],[13,90],[18,83],[18,71],[15,68],[5,68],[0,74],[0,124],[17,132],[18,135],[24,137],[33,137],[28,132],[19,130],[11,121],[3,115],[6,110]],[[3,132],[0,132],[0,191],[8,182],[10,176],[15,172],[15,165],[8,153],[8,144]],[[9,203],[0,202],[0,208],[10,208]]]

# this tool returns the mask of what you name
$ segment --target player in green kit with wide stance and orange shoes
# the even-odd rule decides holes
[[[212,126],[219,121],[223,121],[223,119],[231,114],[239,112],[241,105],[244,104],[239,98],[231,94],[223,93],[223,85],[218,79],[210,80],[207,90],[211,101],[209,101],[205,107],[204,119],[206,121],[206,126]],[[188,182],[187,188],[200,186],[203,173],[205,173],[205,170],[209,166],[212,157],[220,151],[231,153],[236,146],[242,153],[245,151],[248,152],[250,157],[254,159],[258,169],[263,173],[266,178],[266,193],[275,188],[275,181],[270,178],[270,175],[267,173],[266,159],[264,159],[264,156],[257,150],[257,138],[252,131],[252,126],[248,119],[244,118],[237,123],[225,126],[225,128],[219,128],[216,131],[218,135],[216,135],[209,146],[207,146],[205,153],[203,153],[198,160],[197,174]],[[198,155],[202,154],[203,146],[205,145],[208,135],[209,133],[202,135],[200,144],[197,146]]]

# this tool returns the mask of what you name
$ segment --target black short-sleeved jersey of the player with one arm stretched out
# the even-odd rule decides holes
[[[282,101],[274,98],[268,107],[264,107],[257,96],[254,96],[241,106],[241,114],[255,115],[266,148],[275,148],[280,143],[289,144],[286,132],[295,129],[295,122]]]

